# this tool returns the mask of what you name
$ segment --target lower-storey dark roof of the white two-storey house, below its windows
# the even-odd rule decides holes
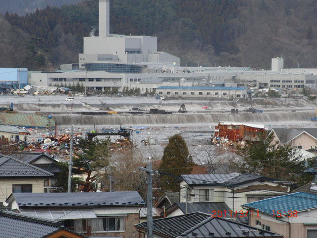
[[[186,203],[184,202],[178,202],[175,204],[176,206],[179,207],[179,209],[185,214],[186,213]],[[219,217],[222,218],[232,218],[232,213],[230,216],[230,208],[225,202],[189,202],[187,203],[187,213],[193,213],[193,212],[203,212],[203,213],[208,213],[208,214],[214,214],[213,211],[221,211],[217,213]],[[226,211],[226,212],[224,212]],[[168,212],[168,209],[166,210]],[[236,216],[236,219],[234,221],[239,222],[239,223],[247,223],[245,217],[239,217]]]

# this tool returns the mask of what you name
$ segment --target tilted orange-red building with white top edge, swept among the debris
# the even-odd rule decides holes
[[[258,141],[261,135],[265,135],[264,125],[241,122],[220,121],[214,127],[214,136],[230,141]]]

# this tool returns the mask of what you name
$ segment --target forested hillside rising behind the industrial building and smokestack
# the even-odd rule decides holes
[[[0,25],[0,67],[56,69],[78,62],[95,27],[98,0],[6,13]],[[315,0],[111,0],[110,34],[158,36],[158,50],[181,65],[317,66]],[[7,22],[6,22],[7,21]]]

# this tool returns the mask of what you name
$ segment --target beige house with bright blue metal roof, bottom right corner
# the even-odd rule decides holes
[[[242,206],[249,211],[251,226],[286,238],[317,237],[317,195],[296,192]]]

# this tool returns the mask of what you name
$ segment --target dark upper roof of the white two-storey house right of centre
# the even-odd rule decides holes
[[[274,179],[266,178],[259,175],[250,174],[238,174],[232,173],[227,175],[181,175],[181,178],[185,180],[187,184],[190,185],[238,185],[254,180],[269,180]],[[180,180],[180,179],[176,179]]]

